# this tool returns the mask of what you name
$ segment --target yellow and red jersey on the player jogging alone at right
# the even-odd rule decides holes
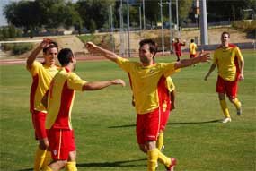
[[[243,61],[239,47],[229,44],[218,47],[214,53],[213,64],[217,65],[218,74],[225,81],[234,81],[240,73],[238,61]]]

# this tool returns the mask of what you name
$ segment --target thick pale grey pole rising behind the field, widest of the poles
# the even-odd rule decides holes
[[[200,0],[200,26],[201,45],[208,45],[206,0]]]

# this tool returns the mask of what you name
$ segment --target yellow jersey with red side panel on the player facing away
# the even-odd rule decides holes
[[[52,79],[48,94],[46,129],[72,130],[71,111],[75,90],[83,90],[86,81],[67,68],[62,68]]]

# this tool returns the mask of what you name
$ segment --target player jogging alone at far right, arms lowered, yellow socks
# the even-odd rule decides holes
[[[225,115],[223,123],[231,122],[231,117],[225,102],[225,94],[229,98],[230,102],[236,107],[237,115],[242,114],[242,104],[236,98],[238,81],[243,81],[243,67],[244,60],[240,52],[239,47],[229,43],[230,34],[228,32],[223,32],[221,34],[221,45],[216,48],[213,58],[213,64],[210,66],[207,75],[205,76],[205,81],[207,81],[208,76],[212,73],[216,66],[218,69],[218,77],[216,81],[216,92],[218,93],[218,98],[220,106]]]

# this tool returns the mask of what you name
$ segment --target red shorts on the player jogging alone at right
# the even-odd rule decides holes
[[[218,76],[216,81],[216,92],[224,93],[229,98],[235,98],[237,93],[237,81],[225,81]]]

